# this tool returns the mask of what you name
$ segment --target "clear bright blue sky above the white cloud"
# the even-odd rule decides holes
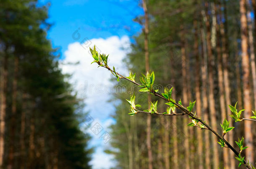
[[[133,18],[143,14],[138,0],[42,0],[50,2],[48,37],[63,54],[68,44],[76,42],[72,34],[79,30],[82,38],[108,38],[134,35],[141,30]],[[81,39],[82,40],[82,39]]]

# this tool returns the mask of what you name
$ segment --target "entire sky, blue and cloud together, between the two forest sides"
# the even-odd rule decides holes
[[[40,0],[51,3],[48,22],[53,23],[47,37],[54,48],[60,48],[63,73],[71,73],[70,83],[78,96],[84,98],[86,111],[94,119],[92,126],[100,124],[103,132],[110,132],[108,126],[115,123],[110,115],[115,111],[109,88],[115,85],[110,81],[110,73],[91,65],[89,46],[97,45],[99,50],[110,54],[110,64],[120,73],[127,73],[122,60],[129,51],[131,36],[141,31],[141,26],[133,18],[143,14],[138,0]],[[121,50],[125,47],[127,50]],[[76,63],[68,65],[65,63]],[[116,103],[115,103],[116,104]],[[109,169],[115,165],[113,156],[104,154],[110,144],[94,134],[90,146],[96,147],[91,164],[93,169]]]

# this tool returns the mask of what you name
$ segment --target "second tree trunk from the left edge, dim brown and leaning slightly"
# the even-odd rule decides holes
[[[13,168],[14,135],[16,126],[16,100],[17,100],[17,76],[18,76],[18,57],[14,58],[14,77],[13,77],[13,96],[12,96],[12,115],[10,119],[10,148],[8,156],[8,169]]]

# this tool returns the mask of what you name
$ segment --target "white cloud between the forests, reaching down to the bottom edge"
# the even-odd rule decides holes
[[[110,81],[112,74],[107,69],[98,68],[96,63],[91,64],[93,58],[89,53],[89,46],[92,48],[95,44],[100,53],[110,54],[108,65],[115,66],[118,72],[124,73],[126,68],[123,66],[122,60],[129,50],[130,41],[128,36],[123,36],[122,38],[112,36],[107,39],[99,38],[84,41],[85,43],[83,44],[75,42],[68,45],[68,50],[64,53],[65,59],[60,67],[63,73],[73,74],[70,83],[73,84],[74,90],[78,91],[78,96],[86,98],[84,100],[86,109],[89,110],[94,121],[99,121],[104,130],[108,131],[108,126],[115,123],[110,118],[110,114],[115,111],[115,108],[108,102],[111,98],[109,91],[115,83]],[[77,62],[79,64],[67,64]],[[104,141],[99,136],[95,134],[92,134],[92,136],[91,142],[94,143],[92,145],[97,146],[91,161],[93,169],[110,168],[114,165],[114,162],[111,161],[113,156],[103,152],[104,147],[108,145],[104,144]]]

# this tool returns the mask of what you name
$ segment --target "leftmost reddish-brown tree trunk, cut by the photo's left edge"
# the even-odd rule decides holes
[[[0,168],[3,168],[4,147],[5,147],[5,115],[6,115],[6,93],[7,93],[7,77],[8,77],[8,46],[5,47],[3,57],[3,65],[1,66],[1,82],[0,82]]]

